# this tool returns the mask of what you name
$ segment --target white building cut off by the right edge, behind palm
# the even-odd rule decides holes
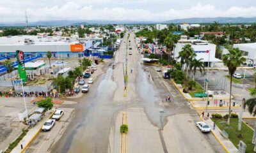
[[[234,44],[233,48],[239,48],[244,52],[244,57],[246,58],[246,64],[256,65],[256,43],[239,43]]]

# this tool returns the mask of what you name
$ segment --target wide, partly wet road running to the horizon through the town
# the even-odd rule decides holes
[[[126,38],[127,34],[124,36],[125,41]],[[109,144],[109,135],[115,126],[117,113],[129,108],[141,110],[141,107],[144,112],[140,115],[145,113],[146,118],[143,119],[150,124],[145,127],[145,134],[139,138],[140,143],[137,141],[138,137],[128,135],[132,144],[127,145],[132,146],[132,152],[143,152],[141,149],[164,153],[224,152],[211,133],[203,134],[196,129],[198,114],[190,108],[188,101],[184,100],[177,89],[170,82],[163,81],[154,67],[140,64],[141,55],[135,49],[134,34],[131,34],[132,55],[128,55],[128,95],[124,97],[125,45],[122,42],[115,60],[106,64],[106,73],[94,82],[90,92],[81,98],[72,99],[77,101],[77,105],[74,105],[74,119],[51,152],[114,152],[109,147],[113,145]],[[148,74],[153,77],[148,78]],[[164,101],[168,94],[172,97],[171,103]],[[129,120],[129,124],[138,123]],[[153,132],[157,135],[152,136]],[[154,141],[148,142],[150,138],[161,143],[161,147],[157,146],[158,150],[147,149],[154,145]]]

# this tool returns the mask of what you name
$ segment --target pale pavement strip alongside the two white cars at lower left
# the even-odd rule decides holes
[[[50,148],[57,142],[61,135],[67,128],[70,120],[72,119],[73,108],[58,108],[64,110],[64,115],[60,120],[56,120],[51,131],[41,131],[39,135],[33,140],[31,145],[25,150],[25,152],[50,152]]]

